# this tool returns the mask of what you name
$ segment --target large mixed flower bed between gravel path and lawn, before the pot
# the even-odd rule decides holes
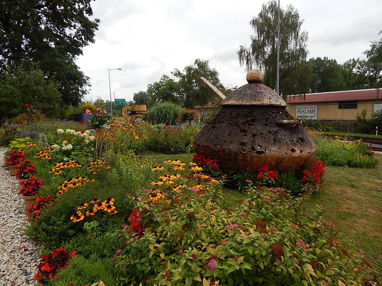
[[[211,180],[200,172],[207,166],[220,171],[213,159],[204,158],[201,166],[200,160],[137,156],[155,140],[190,152],[186,141],[192,142],[194,129],[108,126],[57,128],[47,133],[50,146],[24,151],[36,165],[34,180],[45,184],[28,209],[26,229],[47,247],[36,275],[44,283],[268,285],[282,279],[325,285],[374,279],[348,240],[297,195],[323,182],[325,163],[314,161],[297,175],[265,165]],[[241,199],[228,197],[228,179]],[[62,264],[49,260],[61,256]]]

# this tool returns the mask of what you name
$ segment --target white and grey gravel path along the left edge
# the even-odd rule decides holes
[[[0,286],[32,286],[42,246],[28,241],[24,234],[24,200],[18,192],[18,181],[3,167],[6,150],[0,148]]]

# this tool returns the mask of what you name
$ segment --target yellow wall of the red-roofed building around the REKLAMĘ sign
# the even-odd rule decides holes
[[[367,109],[366,117],[370,117],[373,112],[373,104],[382,103],[378,101],[358,101],[357,109],[338,109],[338,102],[321,102],[321,103],[293,103],[288,104],[288,112],[291,116],[296,117],[296,106],[317,105],[317,119],[323,120],[355,120],[357,114],[361,114],[363,109]]]

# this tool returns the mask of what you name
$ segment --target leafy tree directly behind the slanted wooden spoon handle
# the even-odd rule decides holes
[[[186,108],[204,106],[216,96],[200,77],[206,78],[217,87],[220,86],[219,72],[210,68],[208,60],[196,59],[193,64],[186,66],[183,72],[175,69],[172,74],[179,79],[179,95]]]

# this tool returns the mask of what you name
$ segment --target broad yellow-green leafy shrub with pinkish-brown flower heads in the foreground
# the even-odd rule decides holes
[[[117,285],[375,281],[371,265],[347,247],[320,210],[306,211],[305,198],[250,183],[248,199],[227,208],[221,188],[215,183],[168,190],[157,201],[146,190],[133,196],[130,225],[120,230],[124,247],[114,259]]]

